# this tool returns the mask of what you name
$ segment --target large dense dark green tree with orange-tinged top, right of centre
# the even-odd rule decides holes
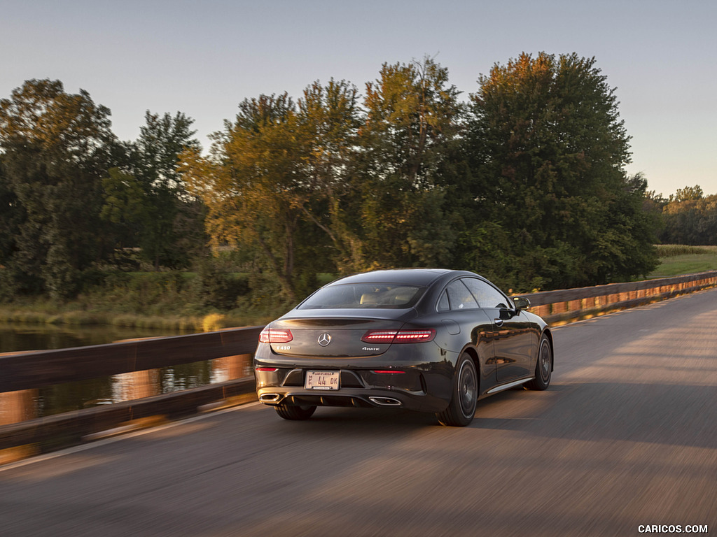
[[[475,248],[463,263],[494,277],[503,266],[520,289],[650,271],[646,183],[625,174],[630,137],[594,58],[521,54],[478,83],[465,137],[475,211],[460,239]]]

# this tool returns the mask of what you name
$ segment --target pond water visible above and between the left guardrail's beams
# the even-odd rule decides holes
[[[64,349],[117,342],[138,337],[163,337],[186,334],[171,330],[125,329],[116,326],[67,326],[25,323],[0,323],[0,352]],[[2,409],[24,416],[24,419],[70,412],[113,402],[175,392],[221,382],[227,379],[226,364],[221,360],[180,364],[141,374],[118,374],[113,377],[67,382],[38,390],[28,390],[22,410]],[[141,384],[141,386],[137,386]],[[139,394],[139,395],[138,395]],[[16,419],[2,420],[11,422]]]

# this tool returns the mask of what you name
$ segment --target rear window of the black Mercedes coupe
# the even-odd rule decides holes
[[[298,309],[411,308],[424,290],[401,284],[338,284],[319,289]]]

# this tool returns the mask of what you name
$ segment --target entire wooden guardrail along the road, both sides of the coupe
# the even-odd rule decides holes
[[[710,271],[627,284],[541,291],[528,297],[531,311],[556,324],[716,285],[717,271]],[[32,400],[28,390],[51,384],[241,355],[248,361],[256,349],[261,329],[262,326],[251,326],[74,349],[5,354],[0,356],[0,414],[3,398],[27,402]],[[0,463],[4,460],[2,450],[16,446],[42,444],[42,449],[57,448],[138,419],[184,415],[212,402],[254,393],[253,379],[244,377],[26,421],[21,421],[22,412],[16,412],[16,417],[0,421],[5,424],[0,425]],[[32,453],[35,450],[32,448]]]

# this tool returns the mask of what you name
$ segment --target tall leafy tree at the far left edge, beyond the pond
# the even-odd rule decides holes
[[[115,138],[110,111],[62,82],[29,80],[0,100],[0,150],[6,185],[22,207],[6,263],[19,291],[67,296],[82,270],[108,249],[99,218],[100,178]]]

